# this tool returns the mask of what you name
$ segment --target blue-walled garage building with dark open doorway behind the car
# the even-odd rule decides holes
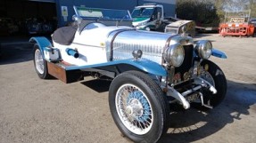
[[[174,16],[176,0],[1,0],[0,18],[24,21],[31,18],[55,20],[56,27],[67,25],[74,14],[73,5],[86,7],[121,9],[132,12],[136,5],[162,4],[166,16]],[[62,11],[66,15],[63,15]]]

